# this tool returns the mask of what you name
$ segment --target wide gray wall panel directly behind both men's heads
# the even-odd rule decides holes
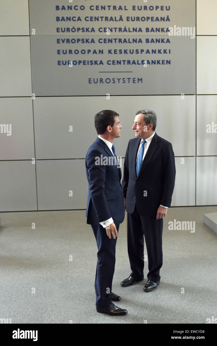
[[[95,141],[94,115],[102,109],[120,114],[121,137],[114,140],[117,156],[125,156],[135,113],[157,113],[156,133],[172,143],[176,156],[195,155],[195,96],[36,97],[34,100],[37,159],[85,158]],[[70,133],[69,125],[73,126]]]

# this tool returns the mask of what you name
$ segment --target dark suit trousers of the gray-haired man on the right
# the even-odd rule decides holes
[[[136,206],[132,214],[128,213],[128,255],[131,275],[136,281],[144,278],[144,237],[148,254],[148,280],[160,281],[160,268],[163,264],[162,231],[163,219],[139,215]]]

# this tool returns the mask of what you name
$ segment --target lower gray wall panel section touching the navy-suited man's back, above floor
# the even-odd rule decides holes
[[[38,210],[86,209],[85,160],[39,160],[36,172]]]

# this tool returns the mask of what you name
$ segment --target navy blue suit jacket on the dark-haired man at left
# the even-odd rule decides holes
[[[117,168],[109,147],[102,139],[97,137],[89,147],[85,166],[89,184],[87,224],[99,225],[111,217],[115,225],[120,224],[125,216],[121,169]]]

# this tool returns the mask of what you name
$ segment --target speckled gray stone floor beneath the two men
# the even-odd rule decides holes
[[[204,324],[217,318],[217,235],[203,224],[203,214],[216,211],[216,207],[168,210],[161,283],[152,292],[143,291],[147,279],[120,286],[131,272],[125,218],[117,239],[112,290],[121,295],[116,304],[128,314],[119,317],[96,312],[97,246],[84,210],[2,212],[0,318],[32,324]],[[195,221],[195,232],[169,230],[168,222],[174,219]],[[145,262],[145,277],[147,272]]]

